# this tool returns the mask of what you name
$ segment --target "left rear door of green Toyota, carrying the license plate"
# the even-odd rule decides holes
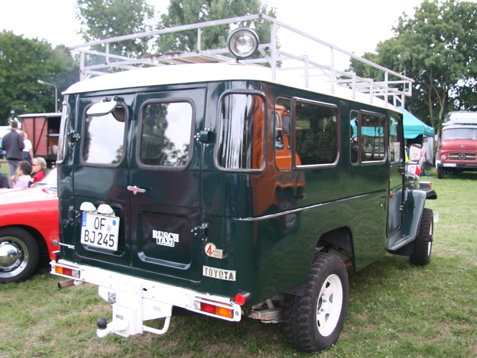
[[[115,96],[113,94],[107,97],[112,99]],[[81,204],[86,201],[91,202],[96,209],[101,204],[108,204],[114,210],[114,216],[119,218],[117,250],[112,250],[115,245],[110,247],[109,241],[108,245],[101,242],[101,247],[98,246],[99,237],[96,233],[94,244],[81,243],[82,226],[85,225],[85,221],[75,220],[74,246],[79,257],[127,266],[131,264],[127,153],[134,98],[134,95],[121,95],[114,98],[118,102],[116,109],[104,116],[86,115],[87,109],[94,103],[101,102],[104,96],[79,99],[76,131],[81,134],[81,137],[79,148],[76,148],[75,152],[73,209],[80,211]],[[75,215],[73,212],[70,210],[70,216]]]

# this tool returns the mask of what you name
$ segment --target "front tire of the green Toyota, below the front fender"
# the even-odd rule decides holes
[[[413,253],[409,260],[413,265],[425,266],[431,261],[434,215],[431,209],[424,209],[421,216],[419,233],[414,240]]]

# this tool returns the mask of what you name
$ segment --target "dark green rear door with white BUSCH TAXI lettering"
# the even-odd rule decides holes
[[[198,281],[206,88],[136,95],[131,166],[132,265]],[[135,187],[135,188],[134,188]]]

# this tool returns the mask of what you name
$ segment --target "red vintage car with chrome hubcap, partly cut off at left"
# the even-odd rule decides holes
[[[0,283],[23,281],[59,250],[56,169],[25,189],[0,190]]]

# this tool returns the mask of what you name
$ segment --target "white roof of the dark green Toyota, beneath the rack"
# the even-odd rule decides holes
[[[63,95],[170,84],[247,80],[281,84],[304,91],[332,95],[330,85],[325,82],[310,82],[309,88],[305,88],[302,78],[290,75],[288,72],[278,72],[277,81],[272,81],[271,71],[267,68],[230,63],[175,64],[116,72],[77,82],[64,91]],[[349,88],[336,86],[334,92],[332,95],[334,97],[370,104],[369,94],[356,92],[356,98],[353,100],[352,90]],[[372,105],[385,107],[384,101],[376,97],[373,97]]]

